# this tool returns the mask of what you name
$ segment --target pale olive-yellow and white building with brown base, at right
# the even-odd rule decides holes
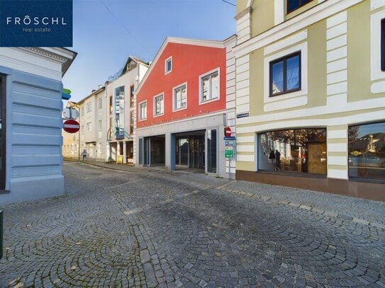
[[[236,178],[385,200],[385,2],[238,0]]]

